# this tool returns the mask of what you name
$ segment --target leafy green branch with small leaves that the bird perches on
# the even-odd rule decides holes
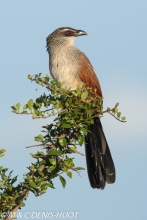
[[[14,203],[9,207],[9,210],[12,209],[12,211],[11,215],[6,217],[6,220],[14,218],[13,214],[23,206],[22,202],[28,196],[29,191],[32,191],[35,195],[41,195],[46,192],[48,187],[54,188],[52,179],[62,173],[68,175],[71,169],[79,174],[78,168],[76,169],[73,163],[74,158],[70,157],[69,154],[73,156],[73,153],[77,153],[85,156],[76,150],[75,145],[84,143],[84,136],[89,132],[88,128],[93,122],[93,118],[102,117],[104,113],[109,113],[118,121],[126,122],[125,118],[120,117],[121,113],[118,112],[119,103],[112,109],[107,108],[102,111],[103,99],[96,95],[96,90],[85,89],[84,84],[82,88],[71,91],[63,89],[62,84],[51,80],[49,76],[41,77],[41,73],[35,74],[34,77],[29,75],[28,78],[41,86],[45,86],[47,90],[50,89],[50,94],[46,95],[44,93],[36,101],[30,99],[24,105],[22,112],[20,112],[20,103],[17,103],[11,106],[13,112],[21,115],[31,114],[34,119],[57,116],[54,119],[55,124],[43,126],[42,132],[46,132],[45,136],[39,134],[35,137],[39,144],[26,147],[43,147],[46,154],[37,152],[32,156],[37,159],[37,162],[28,167],[30,172],[25,174],[24,182],[18,185],[20,187],[18,187],[17,199],[14,198],[15,207],[12,208]],[[91,94],[93,95],[91,96]],[[42,110],[42,108],[45,108],[45,110]],[[62,112],[64,113],[62,114]],[[70,175],[68,176],[71,178]],[[65,179],[63,177],[59,179],[65,187]]]

